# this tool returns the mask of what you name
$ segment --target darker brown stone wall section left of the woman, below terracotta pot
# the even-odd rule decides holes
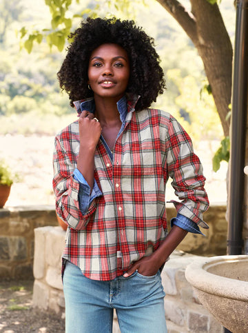
[[[54,207],[0,209],[0,279],[33,279],[34,229],[57,225]]]

